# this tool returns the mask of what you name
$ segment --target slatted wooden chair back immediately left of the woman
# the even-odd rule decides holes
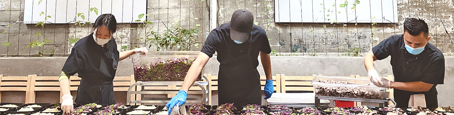
[[[35,103],[36,91],[60,91],[59,76],[36,76],[29,75],[30,78],[30,96],[29,103]],[[62,94],[60,93],[59,97]],[[59,98],[58,97],[58,98]],[[61,99],[60,99],[61,103]]]

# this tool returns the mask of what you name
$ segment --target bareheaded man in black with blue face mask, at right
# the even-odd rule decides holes
[[[444,82],[444,56],[429,43],[429,27],[421,19],[408,18],[403,35],[393,35],[372,48],[364,58],[370,81],[379,87],[394,88],[397,107],[408,107],[410,95],[424,94],[426,107],[438,107],[438,84]],[[394,81],[379,76],[375,60],[391,55]]]

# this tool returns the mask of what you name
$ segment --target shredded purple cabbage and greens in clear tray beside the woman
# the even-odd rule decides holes
[[[194,58],[175,58],[173,60],[157,60],[150,66],[134,65],[136,81],[183,81]],[[197,80],[202,79],[199,75]]]

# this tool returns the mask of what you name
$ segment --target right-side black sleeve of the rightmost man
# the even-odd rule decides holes
[[[424,83],[428,84],[444,84],[444,57],[443,55],[437,56],[435,59],[432,59],[424,68],[423,79],[421,80]]]

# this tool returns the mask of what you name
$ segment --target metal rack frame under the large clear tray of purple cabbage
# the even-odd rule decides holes
[[[207,95],[209,95],[209,83],[208,83],[208,78],[207,76],[203,75],[203,79],[205,79],[205,82],[200,82],[196,81],[194,85],[192,86],[198,86],[202,89],[202,99],[200,100],[187,100],[187,103],[197,103],[199,101],[202,101],[202,105],[206,105],[209,99],[207,98]],[[141,81],[141,82],[136,82],[133,85],[129,86],[128,88],[128,93],[127,93],[127,99],[126,99],[126,104],[129,105],[130,103],[168,103],[169,100],[130,100],[131,94],[140,94],[142,95],[141,97],[143,98],[143,95],[145,94],[178,94],[178,91],[147,91],[144,90],[145,86],[162,86],[162,85],[183,85],[183,81]],[[205,89],[206,86],[207,89]],[[132,89],[135,86],[141,86],[140,91],[132,91]],[[200,94],[196,93],[195,91],[188,91],[188,94]]]

